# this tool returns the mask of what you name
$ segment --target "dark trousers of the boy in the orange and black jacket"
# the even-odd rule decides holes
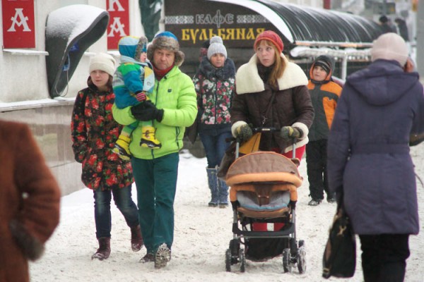
[[[310,196],[314,200],[324,199],[324,191],[329,197],[329,183],[326,172],[327,140],[310,141],[306,145],[307,179],[310,183]],[[333,195],[330,195],[333,197]]]

